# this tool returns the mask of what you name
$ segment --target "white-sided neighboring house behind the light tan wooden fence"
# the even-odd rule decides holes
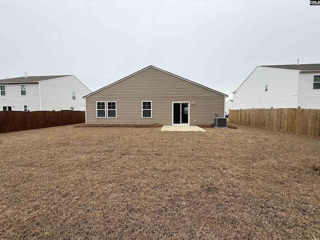
[[[233,109],[319,109],[320,63],[257,66],[232,93]]]

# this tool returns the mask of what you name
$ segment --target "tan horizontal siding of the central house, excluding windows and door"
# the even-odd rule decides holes
[[[97,118],[96,101],[116,101],[117,117]],[[141,117],[141,101],[152,101],[152,118]],[[190,102],[190,125],[213,123],[215,112],[223,116],[224,95],[151,67],[86,97],[86,122],[171,125],[175,101]]]

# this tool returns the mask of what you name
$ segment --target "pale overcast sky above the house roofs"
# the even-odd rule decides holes
[[[0,0],[0,78],[154,65],[232,99],[257,65],[319,63],[319,23],[309,0]]]

